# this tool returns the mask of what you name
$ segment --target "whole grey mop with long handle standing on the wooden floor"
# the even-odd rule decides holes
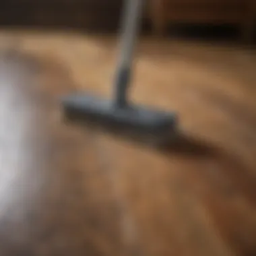
[[[174,132],[177,123],[175,113],[136,106],[127,99],[131,80],[133,52],[143,0],[126,0],[121,36],[121,55],[114,81],[113,100],[77,92],[64,96],[62,100],[65,117],[71,120],[94,120],[100,125],[117,125],[139,133],[166,136]]]

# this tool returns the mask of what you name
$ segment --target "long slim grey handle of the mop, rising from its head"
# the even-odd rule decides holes
[[[119,107],[127,105],[127,88],[131,78],[131,68],[135,40],[139,28],[143,0],[126,0],[121,27],[121,53],[115,78],[115,104]]]

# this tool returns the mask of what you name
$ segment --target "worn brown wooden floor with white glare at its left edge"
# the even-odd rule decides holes
[[[0,255],[256,255],[256,55],[142,39],[131,98],[175,110],[165,150],[65,123],[110,97],[115,38],[0,32]]]

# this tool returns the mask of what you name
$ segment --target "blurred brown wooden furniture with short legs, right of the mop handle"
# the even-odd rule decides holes
[[[243,37],[253,31],[253,0],[150,0],[150,15],[156,34],[164,34],[170,23],[235,24]]]

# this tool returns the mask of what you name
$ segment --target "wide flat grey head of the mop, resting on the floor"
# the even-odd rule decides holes
[[[117,107],[108,100],[81,93],[63,98],[63,108],[65,117],[73,121],[93,121],[152,135],[166,136],[177,123],[173,113],[133,105]]]

